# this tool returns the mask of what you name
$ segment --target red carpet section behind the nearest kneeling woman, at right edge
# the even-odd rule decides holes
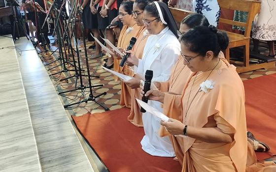
[[[269,145],[259,160],[276,155],[276,74],[243,81],[247,130]]]

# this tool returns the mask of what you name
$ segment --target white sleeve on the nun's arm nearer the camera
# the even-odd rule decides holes
[[[173,65],[176,63],[180,55],[180,44],[168,44],[161,52],[161,75],[153,77],[152,82],[165,82],[170,78],[171,70]]]

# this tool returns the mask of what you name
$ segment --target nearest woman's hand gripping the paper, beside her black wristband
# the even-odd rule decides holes
[[[185,125],[179,120],[170,118],[167,122],[161,121],[161,125],[165,126],[171,135],[183,135]]]

